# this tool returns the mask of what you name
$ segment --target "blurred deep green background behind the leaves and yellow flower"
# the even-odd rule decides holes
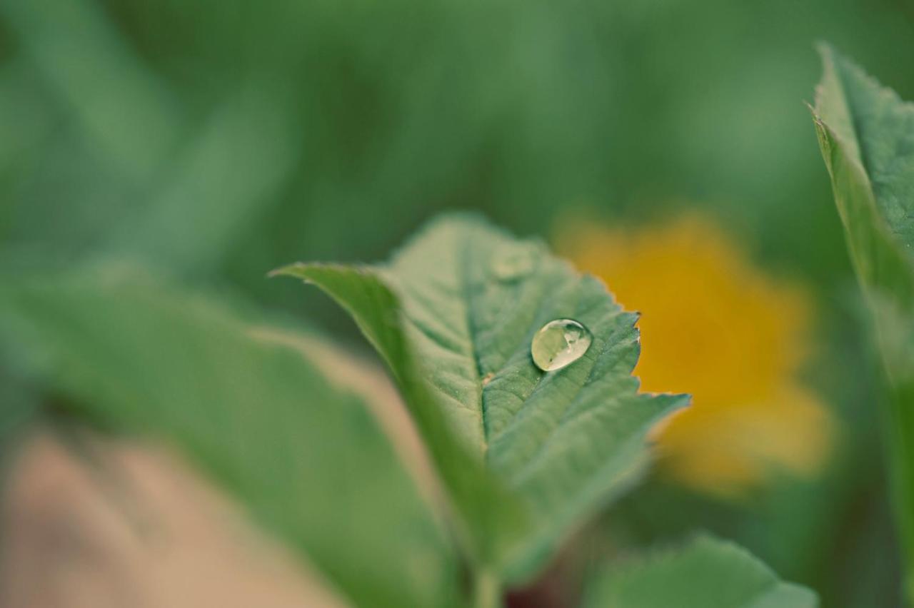
[[[879,380],[803,104],[823,39],[914,98],[909,0],[3,0],[0,269],[137,260],[359,348],[265,273],[386,257],[443,209],[546,237],[701,210],[813,289],[807,373],[847,433],[749,502],[654,480],[607,534],[704,527],[825,606],[894,605]]]

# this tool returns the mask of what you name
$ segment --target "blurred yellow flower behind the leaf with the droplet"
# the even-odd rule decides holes
[[[566,226],[558,248],[642,312],[642,390],[693,395],[657,429],[662,472],[736,497],[823,465],[833,421],[796,379],[809,356],[802,289],[767,277],[696,215],[637,231]]]

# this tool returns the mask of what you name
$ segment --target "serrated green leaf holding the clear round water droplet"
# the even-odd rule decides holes
[[[274,274],[314,283],[353,316],[398,381],[474,558],[509,582],[632,483],[648,430],[687,399],[638,394],[637,315],[599,280],[473,217],[432,222],[388,264]],[[530,341],[563,318],[593,342],[542,372]]]

